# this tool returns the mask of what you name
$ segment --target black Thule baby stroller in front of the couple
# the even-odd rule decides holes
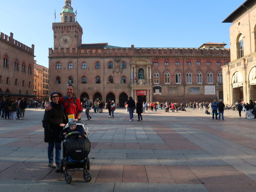
[[[66,124],[67,128],[69,123]],[[70,132],[63,140],[63,159],[60,160],[60,171],[63,172],[65,168],[65,181],[67,184],[72,182],[72,175],[68,169],[84,168],[84,180],[90,182],[92,174],[90,173],[90,159],[88,154],[90,152],[91,144],[88,140],[88,128],[82,121],[76,121],[76,126],[82,126],[84,129],[84,137],[78,138],[79,132]]]

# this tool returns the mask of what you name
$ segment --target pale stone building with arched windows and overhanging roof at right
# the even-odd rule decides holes
[[[224,102],[256,100],[256,2],[247,0],[223,22],[230,22],[231,62],[222,66]]]

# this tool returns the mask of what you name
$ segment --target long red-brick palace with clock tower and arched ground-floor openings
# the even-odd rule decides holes
[[[52,24],[49,90],[64,96],[74,84],[80,99],[114,100],[120,106],[132,96],[142,101],[194,102],[223,99],[222,68],[230,62],[224,43],[215,48],[135,48],[82,44],[71,0],[65,0],[61,22]],[[203,44],[207,46],[207,44]],[[217,48],[220,46],[220,48]]]

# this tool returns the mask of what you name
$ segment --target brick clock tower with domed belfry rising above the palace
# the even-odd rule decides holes
[[[71,0],[65,0],[65,6],[60,13],[61,22],[52,24],[54,32],[54,49],[78,48],[82,44],[83,29],[76,22],[76,15],[71,6]]]

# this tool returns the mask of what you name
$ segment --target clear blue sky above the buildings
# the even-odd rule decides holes
[[[229,27],[222,21],[244,0],[72,0],[83,28],[82,43],[108,43],[130,47],[194,47],[225,42],[230,48]],[[0,32],[30,46],[37,64],[48,67],[53,47],[52,23],[64,0],[2,0]]]

